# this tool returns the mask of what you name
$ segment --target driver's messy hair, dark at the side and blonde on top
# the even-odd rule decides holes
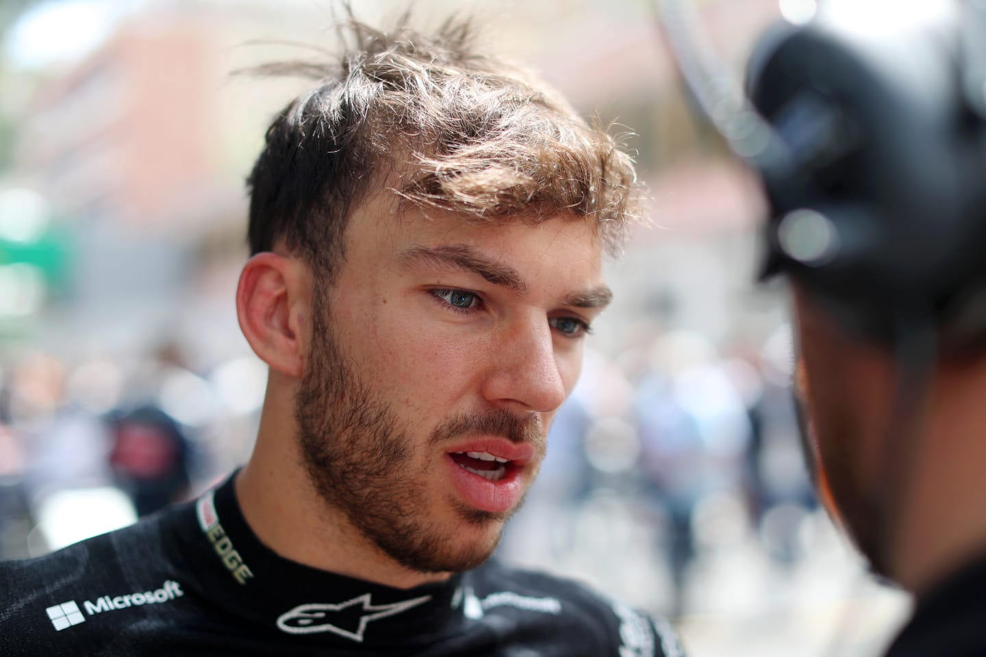
[[[247,184],[251,252],[280,241],[329,278],[350,212],[394,171],[401,205],[494,221],[592,218],[617,252],[638,216],[630,157],[528,71],[476,52],[468,20],[433,36],[356,21],[331,63],[260,67],[316,80],[266,133]]]

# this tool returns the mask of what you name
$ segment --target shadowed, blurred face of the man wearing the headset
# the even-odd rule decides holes
[[[889,360],[850,339],[797,287],[795,309],[800,347],[795,388],[808,410],[813,444],[807,445],[807,456],[819,494],[872,568],[886,576],[880,486],[893,383]]]

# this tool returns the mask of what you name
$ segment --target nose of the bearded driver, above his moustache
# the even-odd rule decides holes
[[[547,319],[505,329],[493,346],[483,394],[498,406],[551,413],[567,396]]]

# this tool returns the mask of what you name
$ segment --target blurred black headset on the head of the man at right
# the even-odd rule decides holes
[[[770,130],[753,161],[763,275],[789,274],[862,339],[922,321],[944,353],[986,337],[984,16],[775,28],[750,59]]]

